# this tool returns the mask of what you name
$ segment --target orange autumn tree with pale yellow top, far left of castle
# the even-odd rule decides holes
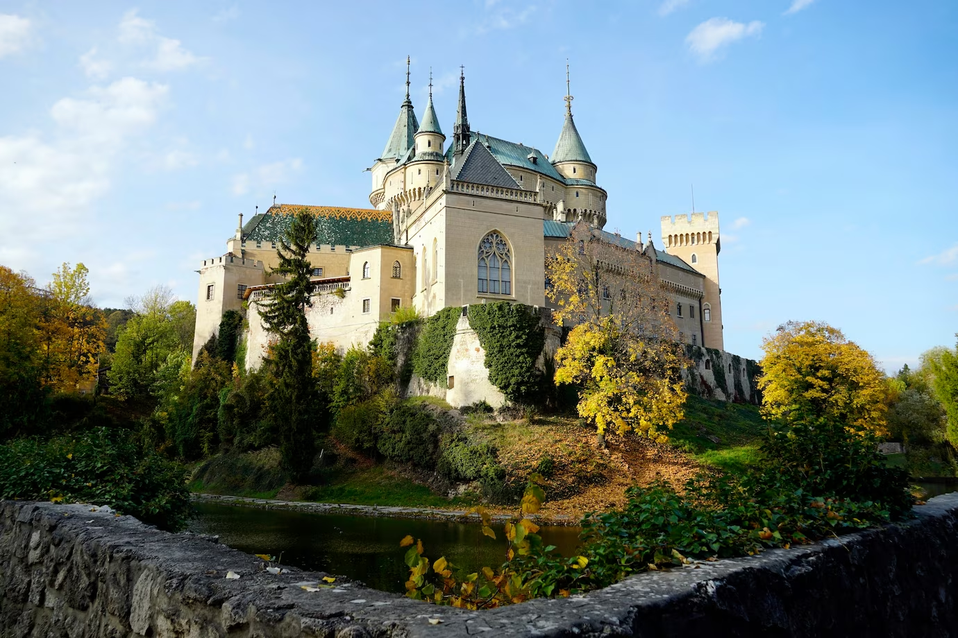
[[[63,263],[43,297],[40,319],[44,384],[62,392],[92,385],[103,352],[106,320],[90,302],[89,270]]]

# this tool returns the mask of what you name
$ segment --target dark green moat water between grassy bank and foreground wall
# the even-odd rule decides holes
[[[198,534],[216,534],[219,541],[250,554],[283,554],[283,563],[310,571],[347,576],[376,589],[403,592],[409,570],[399,540],[407,534],[422,539],[425,556],[469,571],[505,561],[502,525],[493,525],[496,540],[482,536],[478,524],[412,518],[355,517],[286,510],[196,503],[199,517],[190,525]],[[546,544],[572,556],[579,544],[577,527],[543,527]]]

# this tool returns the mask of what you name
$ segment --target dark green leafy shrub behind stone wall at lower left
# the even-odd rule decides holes
[[[108,505],[122,514],[179,530],[192,515],[186,473],[144,452],[124,429],[97,428],[74,438],[19,439],[0,446],[0,498]]]

